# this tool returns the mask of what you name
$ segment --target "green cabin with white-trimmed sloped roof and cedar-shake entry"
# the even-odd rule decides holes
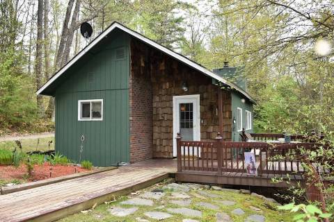
[[[246,82],[114,22],[37,92],[55,98],[56,151],[113,166],[176,156],[175,137],[239,141],[253,130]],[[80,152],[82,148],[82,153]]]

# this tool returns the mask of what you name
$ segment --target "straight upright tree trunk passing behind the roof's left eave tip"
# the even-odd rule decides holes
[[[37,12],[37,41],[36,41],[36,88],[42,87],[42,40],[43,40],[43,0],[38,0]],[[37,96],[38,114],[40,117],[44,115],[43,99],[41,95]]]

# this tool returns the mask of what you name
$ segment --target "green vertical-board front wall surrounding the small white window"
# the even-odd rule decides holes
[[[101,167],[129,162],[129,37],[110,39],[78,61],[55,94],[56,151],[79,162],[84,135],[81,160]],[[124,59],[116,58],[118,49]],[[78,121],[78,101],[87,99],[103,99],[102,121]]]

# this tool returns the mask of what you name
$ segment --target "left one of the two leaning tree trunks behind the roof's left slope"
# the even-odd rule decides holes
[[[65,19],[63,23],[63,31],[61,32],[61,41],[59,42],[57,56],[56,56],[56,70],[61,68],[61,64],[63,61],[63,52],[65,49],[65,44],[67,41],[67,33],[68,33],[68,22],[70,21],[71,12],[73,8],[74,0],[69,0],[67,4]]]

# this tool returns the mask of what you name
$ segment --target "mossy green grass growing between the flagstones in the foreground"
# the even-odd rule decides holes
[[[128,196],[121,196],[116,200],[113,200],[109,203],[104,203],[102,205],[98,205],[95,209],[86,210],[77,214],[73,214],[71,216],[67,216],[64,219],[61,219],[61,222],[74,222],[74,221],[157,221],[154,219],[150,219],[148,216],[145,216],[145,212],[168,212],[168,208],[179,208],[181,206],[170,203],[170,200],[175,200],[172,198],[172,192],[182,192],[186,195],[191,196],[191,204],[186,206],[187,208],[191,208],[193,210],[200,210],[202,212],[202,218],[196,218],[192,216],[182,216],[182,214],[173,214],[172,217],[168,219],[164,219],[163,221],[182,221],[183,219],[194,219],[198,221],[212,221],[216,222],[216,213],[217,212],[225,212],[230,216],[230,219],[234,222],[245,221],[245,219],[253,214],[260,214],[265,216],[266,221],[275,222],[275,221],[292,221],[292,216],[287,214],[287,212],[280,212],[276,209],[276,204],[271,203],[267,200],[262,200],[255,196],[250,196],[249,194],[239,194],[231,191],[214,191],[209,189],[191,189],[190,191],[176,191],[173,189],[166,189],[163,183],[159,183],[148,189],[143,189],[136,193],[138,194],[129,194]],[[134,206],[134,205],[121,205],[120,202],[127,200],[129,198],[134,198],[143,194],[145,191],[150,191],[152,189],[164,189],[164,193],[166,194],[160,200],[154,200],[153,206]],[[210,198],[208,196],[202,196],[200,191],[205,191],[209,194],[218,194],[218,197]],[[140,197],[139,197],[140,198]],[[180,199],[178,199],[180,200]],[[215,200],[233,200],[235,202],[234,205],[223,205],[221,203],[217,203]],[[205,202],[211,203],[213,205],[218,206],[218,210],[209,210],[205,207],[200,207],[196,205],[196,203]],[[257,207],[260,211],[254,211],[250,206]],[[113,216],[109,212],[109,209],[112,207],[138,207],[138,210],[134,212],[134,214],[130,214],[128,216]],[[237,216],[236,214],[232,214],[232,210],[237,208],[241,208],[244,210],[244,214]]]

